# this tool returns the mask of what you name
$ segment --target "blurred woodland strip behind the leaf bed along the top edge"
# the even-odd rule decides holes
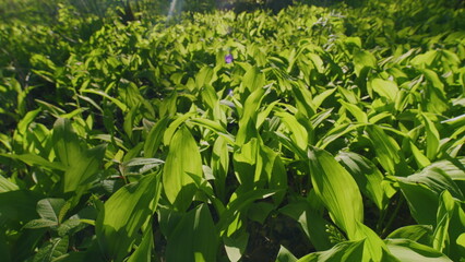
[[[402,2],[402,0],[395,0]],[[391,2],[395,2],[391,1]],[[168,14],[186,12],[212,12],[214,10],[234,10],[235,12],[270,10],[273,13],[297,3],[330,7],[347,4],[360,7],[370,0],[0,0],[0,20],[2,22],[23,21],[34,23],[58,22],[59,10],[71,8],[76,17],[115,17],[128,22],[141,19],[154,19]],[[448,8],[463,8],[464,0],[437,1]]]

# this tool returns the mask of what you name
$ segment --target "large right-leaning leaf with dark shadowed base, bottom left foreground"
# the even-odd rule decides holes
[[[95,225],[100,250],[107,258],[122,261],[129,254],[140,228],[154,214],[159,194],[159,175],[152,174],[108,199]]]

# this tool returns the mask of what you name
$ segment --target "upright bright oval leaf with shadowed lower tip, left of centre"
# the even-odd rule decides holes
[[[163,171],[163,188],[175,209],[186,211],[196,188],[188,175],[202,177],[202,159],[194,138],[188,128],[180,128],[169,144],[169,153]]]

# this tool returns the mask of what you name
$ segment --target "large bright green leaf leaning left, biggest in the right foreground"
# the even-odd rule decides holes
[[[356,181],[326,151],[311,146],[308,157],[317,195],[335,224],[347,233],[349,239],[354,239],[357,223],[363,221],[363,205]]]

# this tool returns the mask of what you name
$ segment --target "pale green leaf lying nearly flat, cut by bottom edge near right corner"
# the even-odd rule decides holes
[[[452,262],[445,254],[408,239],[388,239],[385,242],[400,261]]]

